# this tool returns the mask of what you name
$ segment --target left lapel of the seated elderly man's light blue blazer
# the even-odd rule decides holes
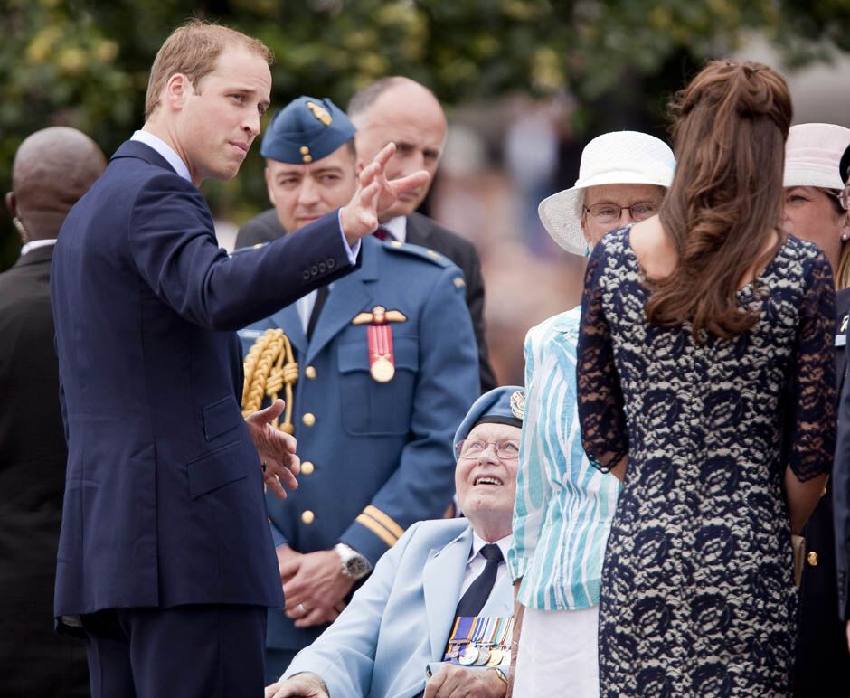
[[[455,609],[458,608],[460,587],[472,550],[472,527],[439,550],[432,550],[422,572],[425,612],[431,646],[431,660],[443,658],[449,639]]]

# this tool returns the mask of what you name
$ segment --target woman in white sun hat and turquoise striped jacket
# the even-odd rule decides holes
[[[635,131],[594,138],[579,180],[545,199],[540,218],[573,254],[609,230],[658,211],[673,152]],[[533,327],[525,340],[526,406],[508,566],[522,626],[514,695],[599,694],[597,618],[602,555],[619,482],[590,467],[578,429],[576,342],[581,308]]]

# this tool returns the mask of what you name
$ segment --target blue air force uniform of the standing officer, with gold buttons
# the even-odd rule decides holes
[[[362,244],[360,269],[333,284],[309,340],[296,305],[240,337],[247,354],[279,327],[297,356],[293,422],[302,473],[286,501],[267,495],[275,545],[315,552],[344,542],[374,565],[408,526],[449,505],[452,429],[479,384],[460,270],[415,245],[375,238]],[[369,325],[353,323],[375,307],[404,318],[388,324],[389,382],[373,378]],[[272,610],[267,644],[294,652],[324,629],[296,628]]]

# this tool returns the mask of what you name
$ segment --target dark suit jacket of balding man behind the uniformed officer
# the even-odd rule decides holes
[[[236,235],[236,247],[250,247],[278,240],[286,231],[280,225],[274,209],[264,211],[245,223]],[[439,252],[458,265],[467,282],[467,307],[472,316],[472,326],[478,343],[478,369],[481,376],[481,391],[496,388],[498,382],[487,355],[484,326],[484,279],[481,277],[481,262],[475,246],[448,231],[439,223],[421,213],[412,213],[407,218],[407,242]]]

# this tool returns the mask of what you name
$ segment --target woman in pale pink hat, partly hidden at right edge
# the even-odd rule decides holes
[[[850,144],[850,128],[835,124],[798,124],[785,145],[785,230],[823,250],[836,276],[836,385],[841,393],[850,309],[850,222],[838,200],[844,189],[839,162]],[[830,485],[831,489],[831,485]],[[836,614],[836,537],[832,493],[826,493],[809,517],[799,593],[797,668],[794,693],[800,698],[845,696],[850,685],[850,653],[845,627]]]

